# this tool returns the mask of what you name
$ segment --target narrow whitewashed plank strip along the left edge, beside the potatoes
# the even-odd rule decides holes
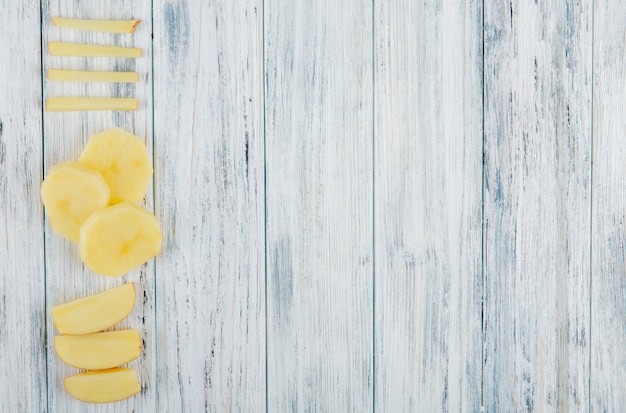
[[[47,403],[39,22],[35,2],[0,13],[0,410],[8,412]]]

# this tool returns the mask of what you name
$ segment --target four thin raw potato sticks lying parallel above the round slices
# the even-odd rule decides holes
[[[102,32],[134,33],[141,20],[83,20],[53,17],[52,24],[67,29]],[[141,57],[142,51],[133,47],[104,46],[95,44],[48,42],[53,56],[77,57]],[[86,70],[46,70],[48,80],[65,82],[119,82],[133,83],[139,80],[137,72],[97,72]],[[58,97],[46,100],[46,111],[68,112],[86,110],[137,110],[139,102],[134,98],[82,98]]]

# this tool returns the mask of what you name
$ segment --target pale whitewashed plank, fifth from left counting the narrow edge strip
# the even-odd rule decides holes
[[[375,7],[376,411],[479,411],[481,2]]]

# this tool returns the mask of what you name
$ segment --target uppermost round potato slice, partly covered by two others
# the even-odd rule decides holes
[[[152,166],[146,145],[120,128],[93,135],[78,162],[100,171],[111,188],[111,203],[137,203],[146,195]]]

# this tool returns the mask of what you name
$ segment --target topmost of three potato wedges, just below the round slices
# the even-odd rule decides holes
[[[89,334],[122,321],[135,306],[135,284],[52,307],[52,321],[61,334]]]

